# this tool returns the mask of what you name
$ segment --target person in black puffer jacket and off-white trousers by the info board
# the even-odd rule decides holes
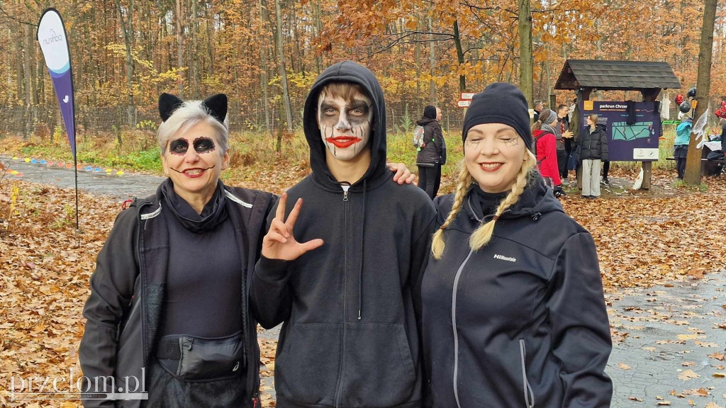
[[[580,132],[577,144],[582,161],[582,197],[600,197],[600,160],[608,160],[608,136],[605,125],[597,123],[597,115],[587,115],[589,128]]]

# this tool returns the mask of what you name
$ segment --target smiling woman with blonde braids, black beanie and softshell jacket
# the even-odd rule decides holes
[[[527,102],[492,83],[464,119],[456,193],[423,275],[436,408],[610,407],[610,327],[595,242],[534,170]]]

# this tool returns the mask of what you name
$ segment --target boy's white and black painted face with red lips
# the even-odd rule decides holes
[[[344,93],[345,94],[345,93]],[[356,91],[351,97],[325,91],[318,97],[318,127],[327,150],[339,160],[351,160],[367,146],[373,118],[369,97]]]

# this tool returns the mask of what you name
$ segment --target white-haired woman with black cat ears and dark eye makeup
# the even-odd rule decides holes
[[[277,196],[219,179],[226,95],[161,94],[159,113],[168,179],[118,215],[97,257],[78,351],[83,406],[259,407],[248,287]],[[413,179],[401,163],[388,168],[399,184]],[[92,399],[107,390],[147,400]]]

